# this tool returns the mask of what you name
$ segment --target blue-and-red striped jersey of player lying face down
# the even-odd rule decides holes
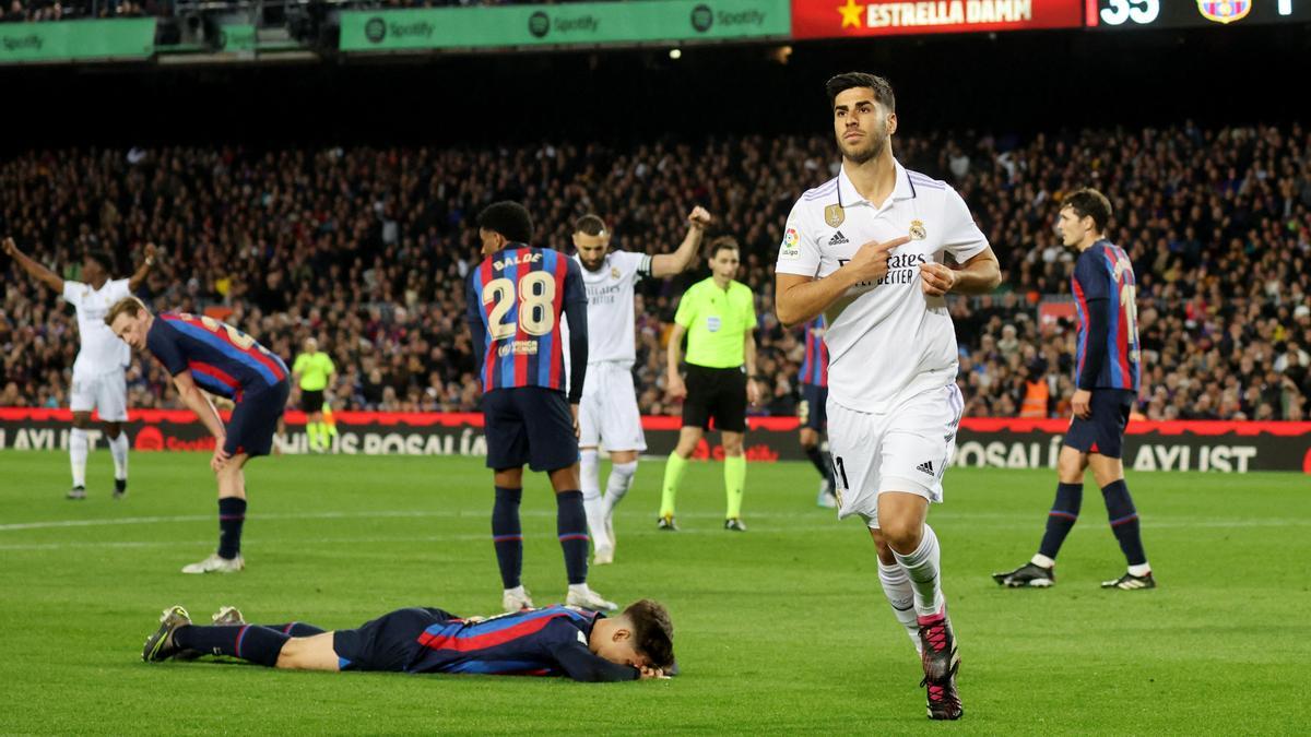
[[[636,679],[635,667],[612,664],[589,648],[598,616],[557,605],[484,620],[438,620],[418,636],[421,648],[405,671]]]

